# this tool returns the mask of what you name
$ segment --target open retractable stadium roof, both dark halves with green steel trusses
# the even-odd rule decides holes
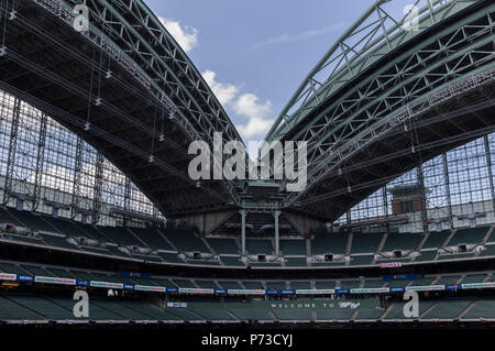
[[[308,142],[308,184],[278,207],[332,221],[395,177],[494,131],[487,0],[380,0],[297,89],[268,141]],[[235,180],[189,178],[188,145],[241,138],[187,55],[141,0],[30,0],[4,31],[0,88],[69,128],[167,217],[242,206]],[[3,7],[3,4],[2,4]],[[2,8],[4,10],[4,8]],[[416,28],[417,26],[417,28]],[[227,157],[227,156],[226,156]]]

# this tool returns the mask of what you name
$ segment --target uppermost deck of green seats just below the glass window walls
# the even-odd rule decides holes
[[[314,233],[311,240],[307,241],[300,238],[280,239],[279,248],[284,257],[283,263],[257,262],[249,259],[244,264],[239,256],[239,238],[199,238],[193,230],[170,229],[170,228],[118,228],[82,224],[80,222],[67,219],[53,218],[46,215],[34,215],[30,211],[18,211],[15,209],[2,208],[0,220],[4,222],[15,222],[20,226],[30,228],[34,231],[44,231],[38,238],[28,237],[22,233],[0,233],[3,239],[48,245],[52,248],[70,249],[79,252],[97,253],[105,255],[117,255],[119,257],[133,257],[141,261],[150,261],[168,264],[191,264],[191,265],[212,265],[212,266],[256,266],[256,267],[338,267],[342,265],[371,265],[382,262],[426,262],[435,260],[458,260],[470,259],[475,255],[487,256],[495,255],[495,245],[487,244],[485,250],[480,253],[465,252],[458,253],[443,245],[455,246],[461,243],[482,243],[490,231],[490,227],[464,228],[459,229],[451,237],[450,230],[441,232],[431,232],[425,237],[424,233],[410,232],[391,232],[384,233],[353,233],[352,240],[348,233]],[[58,235],[50,234],[52,232]],[[84,241],[76,243],[69,242],[67,238],[87,238],[97,240],[95,243]],[[421,242],[424,244],[421,245]],[[351,248],[348,248],[351,242]],[[383,248],[380,248],[383,242]],[[310,259],[308,263],[307,243],[309,244]],[[140,246],[150,248],[153,254],[143,254],[139,252],[125,253],[118,246]],[[419,248],[421,245],[421,248]],[[380,252],[378,252],[380,249]],[[418,256],[409,255],[408,252],[420,249]],[[133,250],[130,248],[129,250]],[[350,252],[348,252],[350,250]],[[395,250],[406,251],[403,257],[393,257],[391,252]],[[246,240],[246,251],[249,255],[273,255],[274,243],[271,239],[249,238]],[[177,257],[178,253],[200,252],[206,254],[201,259]],[[440,254],[438,254],[440,252]],[[348,257],[341,259],[339,255],[350,253]],[[211,260],[210,256],[220,255],[220,260]],[[321,255],[338,255],[334,261],[324,261]],[[375,260],[376,255],[376,260]]]

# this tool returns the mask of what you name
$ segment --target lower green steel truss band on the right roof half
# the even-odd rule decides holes
[[[354,153],[384,140],[407,121],[454,96],[490,85],[491,67],[495,66],[494,9],[488,6],[462,18],[461,25],[437,31],[419,45],[403,48],[374,75],[356,79],[355,90],[348,89],[328,105],[322,102],[314,108],[310,121],[287,132],[284,139],[308,142],[309,186],[288,195],[284,206],[300,205],[299,200],[339,165],[352,162]]]

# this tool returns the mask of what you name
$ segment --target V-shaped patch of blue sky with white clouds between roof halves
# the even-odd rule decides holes
[[[272,121],[374,0],[145,0],[188,53],[244,141]]]

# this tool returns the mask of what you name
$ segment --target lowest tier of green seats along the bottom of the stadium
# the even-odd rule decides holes
[[[176,321],[326,321],[326,320],[400,320],[400,319],[495,319],[495,299],[444,298],[420,300],[419,317],[404,315],[404,301],[387,309],[365,307],[353,309],[336,306],[315,307],[308,300],[263,301],[201,301],[168,304],[161,307],[144,299],[91,298],[89,318],[82,320],[176,320]],[[317,303],[317,300],[314,300]],[[165,306],[165,305],[163,305]],[[0,293],[0,320],[74,320],[74,300],[69,296]]]

